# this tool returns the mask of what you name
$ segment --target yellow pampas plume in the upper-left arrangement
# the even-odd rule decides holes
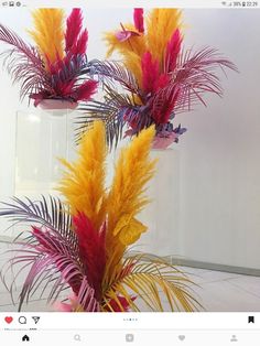
[[[51,63],[64,56],[64,18],[62,9],[37,9],[32,12],[34,30],[29,31],[40,53]]]

